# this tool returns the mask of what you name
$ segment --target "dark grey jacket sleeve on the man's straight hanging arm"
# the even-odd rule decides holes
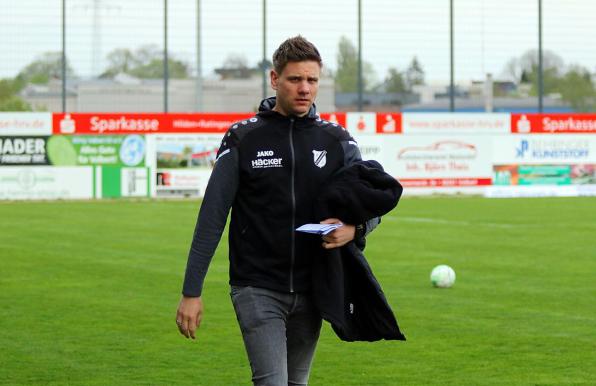
[[[238,149],[228,132],[217,153],[201,204],[194,236],[188,253],[182,294],[201,296],[209,263],[226,226],[228,213],[238,190]]]

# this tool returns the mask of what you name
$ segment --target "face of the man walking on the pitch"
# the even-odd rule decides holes
[[[276,91],[273,110],[283,115],[304,116],[319,91],[319,63],[307,60],[288,62],[281,74],[271,71],[271,87]]]

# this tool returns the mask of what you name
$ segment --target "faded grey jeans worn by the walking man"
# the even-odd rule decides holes
[[[309,295],[231,288],[255,386],[306,385],[321,316]]]

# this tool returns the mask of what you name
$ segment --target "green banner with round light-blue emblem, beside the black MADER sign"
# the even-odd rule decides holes
[[[54,135],[47,155],[57,166],[142,166],[145,139],[141,135]]]

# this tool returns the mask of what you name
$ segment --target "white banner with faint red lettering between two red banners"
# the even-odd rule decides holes
[[[404,134],[506,134],[510,132],[508,113],[404,113]]]

